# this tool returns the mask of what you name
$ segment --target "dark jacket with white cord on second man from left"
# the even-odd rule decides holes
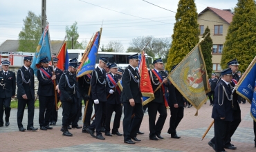
[[[17,98],[23,99],[22,95],[27,95],[28,99],[35,99],[34,70],[25,66],[19,68],[17,72]]]

